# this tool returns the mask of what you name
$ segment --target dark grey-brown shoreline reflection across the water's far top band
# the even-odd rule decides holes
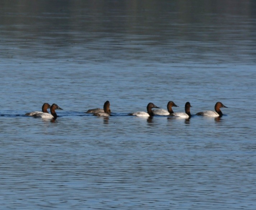
[[[165,63],[255,62],[250,47],[256,39],[253,1],[132,2],[4,1],[0,55],[94,62],[138,56]],[[161,53],[155,53],[158,49]]]

